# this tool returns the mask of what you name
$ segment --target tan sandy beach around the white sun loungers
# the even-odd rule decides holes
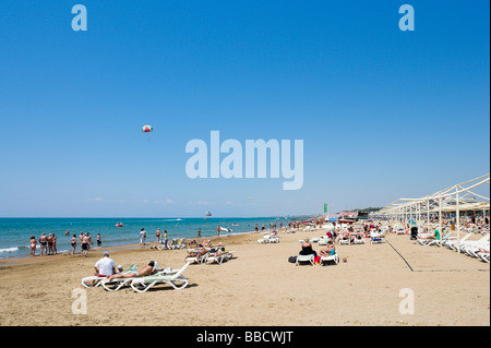
[[[299,239],[323,235],[279,232],[280,242],[271,244],[259,244],[259,233],[215,238],[235,251],[233,259],[190,265],[184,272],[189,286],[182,290],[163,285],[145,293],[81,286],[104,249],[88,257],[2,261],[0,325],[490,325],[489,264],[396,235],[382,244],[336,245],[338,265],[288,263],[301,249]],[[155,260],[161,267],[180,268],[187,254],[149,245],[107,250],[124,267]],[[314,250],[320,250],[315,243]],[[415,295],[415,314],[399,313],[399,291],[407,288]],[[86,291],[87,314],[72,313],[74,289]],[[197,310],[203,305],[224,314]]]

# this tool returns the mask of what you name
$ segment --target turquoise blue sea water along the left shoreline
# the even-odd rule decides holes
[[[248,233],[254,231],[255,224],[259,229],[264,225],[268,229],[270,224],[279,223],[288,225],[287,218],[253,217],[253,218],[0,218],[0,259],[28,256],[31,253],[29,240],[34,236],[39,240],[44,232],[46,236],[55,233],[57,237],[58,253],[70,252],[70,241],[73,235],[79,239],[80,232],[88,232],[94,245],[97,247],[97,233],[100,233],[101,247],[116,247],[140,243],[140,231],[146,231],[146,242],[156,242],[156,230],[161,235],[167,230],[167,238],[197,238],[197,229],[201,228],[201,237],[217,236],[218,226],[231,229],[231,232],[220,231],[220,236],[232,233]],[[122,223],[123,227],[116,227]],[[233,226],[233,225],[238,226]],[[65,231],[69,236],[65,236]],[[37,243],[37,254],[39,253]],[[76,251],[80,250],[77,242]]]

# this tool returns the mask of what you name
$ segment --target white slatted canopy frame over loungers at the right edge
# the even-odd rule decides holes
[[[478,194],[476,191],[482,185],[490,185],[490,175],[486,175],[472,180],[454,184],[447,189],[438,191],[433,194],[426,195],[420,199],[399,199],[382,209],[374,212],[371,216],[384,217],[387,219],[409,223],[421,220],[430,224],[430,217],[439,218],[439,230],[442,231],[442,217],[451,213],[455,213],[457,241],[460,240],[460,214],[462,212],[482,212],[482,215],[489,215],[490,201],[489,189],[486,193]],[[487,195],[487,196],[486,196]],[[426,218],[424,218],[426,217]],[[442,240],[440,240],[440,247]],[[460,245],[458,243],[458,250]]]

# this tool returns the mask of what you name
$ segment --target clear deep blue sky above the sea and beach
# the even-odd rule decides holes
[[[76,3],[87,32],[71,28]],[[398,27],[404,3],[415,32]],[[489,13],[489,1],[4,0],[0,216],[336,212],[488,173]],[[185,144],[213,130],[303,140],[303,187],[188,178]]]

